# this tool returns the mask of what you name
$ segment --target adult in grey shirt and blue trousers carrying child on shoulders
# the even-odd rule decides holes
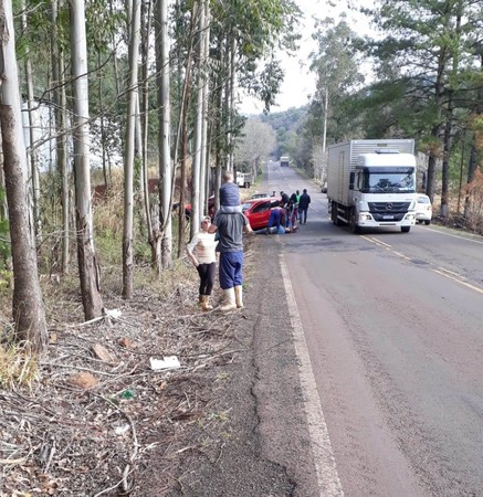
[[[249,220],[241,212],[227,213],[219,210],[210,233],[218,230],[217,252],[220,253],[219,277],[224,293],[220,310],[227,313],[243,307],[243,232],[252,233]]]

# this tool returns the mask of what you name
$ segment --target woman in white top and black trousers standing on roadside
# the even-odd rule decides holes
[[[188,243],[186,252],[200,276],[198,305],[202,310],[211,310],[213,307],[210,305],[210,296],[217,273],[218,242],[214,240],[214,233],[209,232],[210,216],[202,216],[200,224],[200,231]]]

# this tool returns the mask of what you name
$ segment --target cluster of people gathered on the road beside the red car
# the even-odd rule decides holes
[[[273,192],[275,193],[275,192]],[[298,230],[300,224],[307,223],[307,210],[311,204],[311,195],[304,189],[302,194],[296,190],[288,197],[284,191],[280,192],[280,205],[271,209],[269,225],[264,231],[270,233],[294,233]]]

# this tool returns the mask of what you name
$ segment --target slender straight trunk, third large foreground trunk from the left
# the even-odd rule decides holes
[[[140,30],[140,0],[133,0],[129,35],[129,87],[127,103],[126,144],[124,155],[124,233],[123,233],[123,297],[133,298],[134,282],[134,152],[136,131],[137,75]]]

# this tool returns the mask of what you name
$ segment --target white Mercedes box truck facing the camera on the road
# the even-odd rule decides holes
[[[416,223],[414,140],[351,140],[328,147],[327,199],[330,219],[361,228]]]

